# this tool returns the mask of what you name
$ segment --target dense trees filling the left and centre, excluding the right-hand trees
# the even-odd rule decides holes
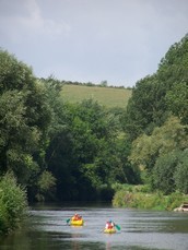
[[[93,99],[63,102],[59,80],[0,51],[0,174],[12,170],[31,201],[110,200],[116,182],[137,183],[122,110]]]

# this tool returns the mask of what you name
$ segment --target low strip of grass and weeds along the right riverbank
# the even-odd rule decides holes
[[[186,200],[188,200],[188,195],[179,192],[163,195],[160,192],[146,192],[145,186],[125,186],[116,191],[113,205],[117,207],[173,211]]]

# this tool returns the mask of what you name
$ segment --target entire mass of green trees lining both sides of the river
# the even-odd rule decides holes
[[[107,109],[64,102],[64,83],[36,79],[0,50],[0,176],[11,171],[30,201],[111,200],[125,183],[187,194],[187,72],[185,36],[137,82],[127,108]]]

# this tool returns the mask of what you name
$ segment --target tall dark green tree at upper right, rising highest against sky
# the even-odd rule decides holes
[[[173,112],[187,123],[188,36],[173,45],[155,74],[136,83],[124,119],[131,140],[151,134]]]

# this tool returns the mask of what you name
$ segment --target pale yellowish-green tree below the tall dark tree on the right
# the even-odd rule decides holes
[[[174,150],[187,147],[186,127],[177,117],[171,117],[162,127],[155,128],[151,135],[143,134],[132,143],[130,160],[137,165],[152,168],[156,158]]]

